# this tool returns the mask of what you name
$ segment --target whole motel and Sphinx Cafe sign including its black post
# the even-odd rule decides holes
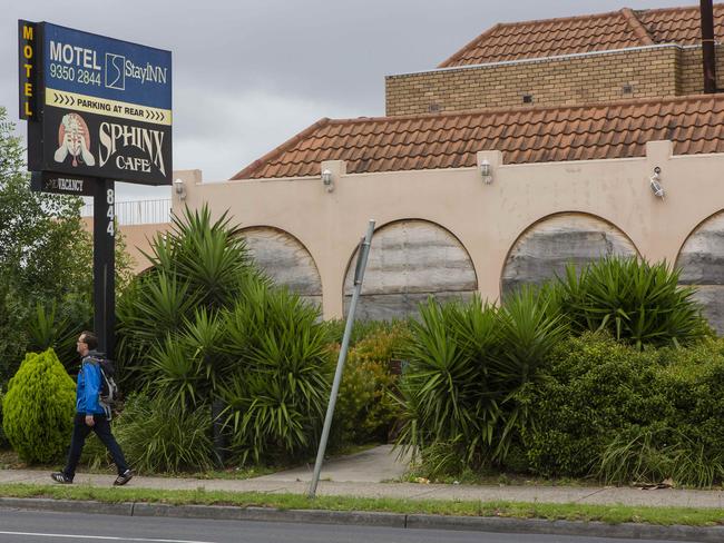
[[[172,53],[18,21],[33,190],[94,197],[94,325],[115,348],[115,181],[172,184]]]

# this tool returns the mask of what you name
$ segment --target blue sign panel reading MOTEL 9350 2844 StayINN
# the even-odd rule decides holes
[[[48,22],[43,33],[47,88],[172,109],[170,51]]]

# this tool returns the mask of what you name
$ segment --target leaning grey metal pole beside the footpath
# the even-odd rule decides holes
[[[320,473],[322,472],[322,463],[324,462],[324,452],[326,451],[326,441],[330,437],[332,417],[334,416],[334,405],[336,404],[336,395],[340,392],[340,384],[342,383],[342,372],[344,372],[346,352],[350,347],[350,336],[352,335],[352,325],[354,324],[354,312],[356,310],[356,303],[360,299],[360,293],[362,292],[362,279],[364,278],[364,268],[366,268],[368,265],[368,256],[370,254],[370,244],[372,243],[373,233],[374,219],[370,219],[368,233],[360,244],[360,254],[358,255],[356,267],[354,269],[354,292],[352,293],[352,304],[350,304],[350,313],[346,316],[346,325],[344,326],[344,337],[342,338],[340,356],[336,359],[334,382],[332,383],[332,392],[330,393],[330,403],[326,406],[326,416],[324,417],[324,427],[322,428],[322,437],[320,438],[320,448],[316,451],[316,462],[314,463],[314,475],[312,476],[312,483],[310,484],[309,497],[314,497],[316,495],[316,485],[320,482]]]

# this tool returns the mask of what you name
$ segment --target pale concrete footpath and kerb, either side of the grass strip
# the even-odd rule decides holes
[[[129,487],[157,490],[205,490],[305,494],[312,465],[272,475],[235,480],[198,480],[136,476]],[[375,447],[343,458],[327,461],[317,486],[320,496],[393,497],[444,501],[507,501],[531,503],[575,503],[599,505],[649,505],[723,509],[724,492],[679,488],[639,490],[610,486],[502,486],[395,483],[407,468],[390,446]],[[76,475],[76,485],[110,486],[115,474]],[[0,483],[52,484],[49,473],[31,470],[0,471]],[[90,504],[56,500],[0,498],[0,507],[88,511]],[[154,504],[97,504],[99,513],[126,515],[193,516],[266,521],[325,522],[340,524],[399,525],[400,527],[446,527],[495,532],[556,533],[608,537],[663,539],[671,541],[724,541],[724,527],[652,526],[645,524],[607,525],[603,523],[528,521],[513,519],[403,515],[394,513],[277,511],[263,507],[169,506]],[[724,523],[724,510],[722,511]]]

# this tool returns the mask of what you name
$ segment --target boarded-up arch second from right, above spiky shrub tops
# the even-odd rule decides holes
[[[598,258],[638,251],[619,228],[594,215],[550,215],[524,231],[508,251],[500,278],[502,297],[521,285],[540,285],[561,275],[566,264],[587,264]]]

